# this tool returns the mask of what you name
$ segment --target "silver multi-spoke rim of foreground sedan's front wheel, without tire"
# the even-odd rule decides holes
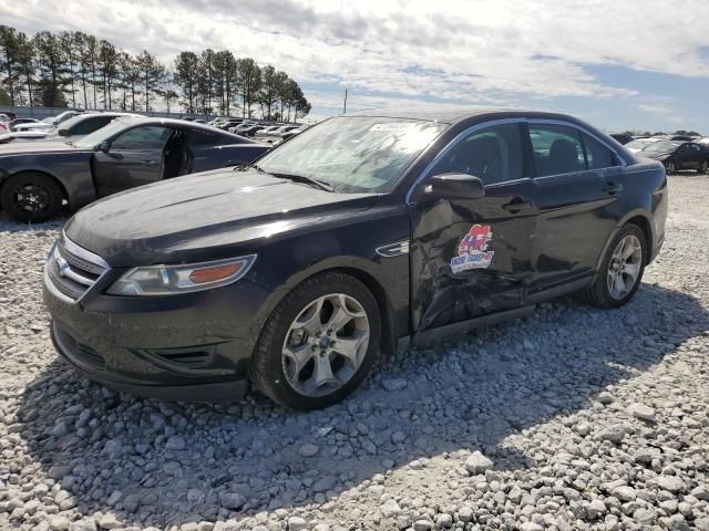
[[[357,373],[369,347],[369,320],[351,295],[330,293],[309,303],[288,329],[282,367],[300,395],[333,393]]]

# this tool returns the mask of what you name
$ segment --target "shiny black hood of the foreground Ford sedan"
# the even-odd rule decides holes
[[[113,267],[178,263],[255,252],[294,231],[348,222],[376,194],[337,194],[257,171],[219,169],[121,192],[64,227]]]

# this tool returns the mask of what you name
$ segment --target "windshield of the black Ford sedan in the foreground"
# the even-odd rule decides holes
[[[325,181],[336,191],[383,191],[444,128],[405,118],[332,118],[274,149],[258,166]]]

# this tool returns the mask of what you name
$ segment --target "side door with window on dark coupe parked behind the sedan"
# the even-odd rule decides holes
[[[165,145],[173,134],[171,127],[141,125],[101,145],[92,160],[96,196],[161,180]]]

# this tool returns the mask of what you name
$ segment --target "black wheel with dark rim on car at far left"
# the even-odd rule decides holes
[[[27,190],[37,197],[30,202]],[[62,210],[64,195],[59,184],[52,178],[35,171],[17,174],[6,180],[0,190],[2,210],[18,221],[38,223],[55,217]]]

